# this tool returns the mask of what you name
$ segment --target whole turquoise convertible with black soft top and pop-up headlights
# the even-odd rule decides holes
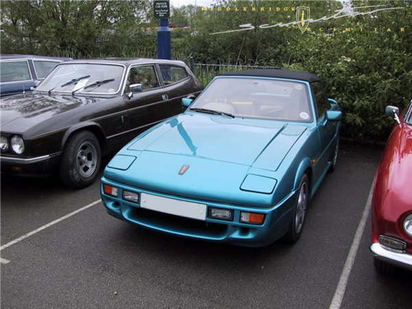
[[[262,247],[301,236],[339,150],[341,111],[318,76],[282,69],[216,76],[184,113],[108,163],[108,214],[141,227]]]

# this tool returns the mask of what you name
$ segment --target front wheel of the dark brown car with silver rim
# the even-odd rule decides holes
[[[90,131],[69,137],[60,163],[60,179],[68,187],[82,188],[95,181],[100,170],[102,152],[98,139]]]

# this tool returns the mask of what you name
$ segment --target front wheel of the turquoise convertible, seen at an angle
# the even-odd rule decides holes
[[[306,210],[308,209],[309,192],[309,178],[307,174],[304,174],[299,182],[297,201],[292,211],[292,220],[290,222],[289,229],[284,236],[284,240],[290,244],[293,244],[299,240],[302,230],[304,229]]]

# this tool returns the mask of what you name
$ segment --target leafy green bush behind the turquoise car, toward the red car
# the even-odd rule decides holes
[[[412,100],[412,54],[402,49],[402,35],[411,36],[313,33],[290,43],[293,62],[284,67],[321,76],[343,110],[343,136],[384,140],[393,127],[385,106]]]

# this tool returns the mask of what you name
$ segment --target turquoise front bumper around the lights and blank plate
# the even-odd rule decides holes
[[[118,188],[118,196],[104,194],[103,184],[112,185]],[[122,191],[129,190],[137,193],[145,192],[166,198],[174,198],[181,201],[206,204],[207,207],[218,207],[233,210],[233,220],[216,220],[206,218],[206,220],[196,220],[163,214],[159,211],[152,211],[139,207],[137,203],[125,201],[122,198]],[[211,201],[194,200],[159,192],[150,192],[137,187],[130,187],[110,179],[102,177],[100,186],[102,201],[108,214],[121,220],[132,222],[135,225],[146,227],[163,233],[170,233],[175,236],[186,238],[196,238],[211,242],[227,242],[246,247],[264,247],[284,236],[292,220],[292,209],[296,203],[296,192],[291,192],[277,205],[271,208],[247,207],[244,205],[231,205],[216,203]],[[252,225],[240,222],[240,211],[255,212],[265,215],[262,225]]]

